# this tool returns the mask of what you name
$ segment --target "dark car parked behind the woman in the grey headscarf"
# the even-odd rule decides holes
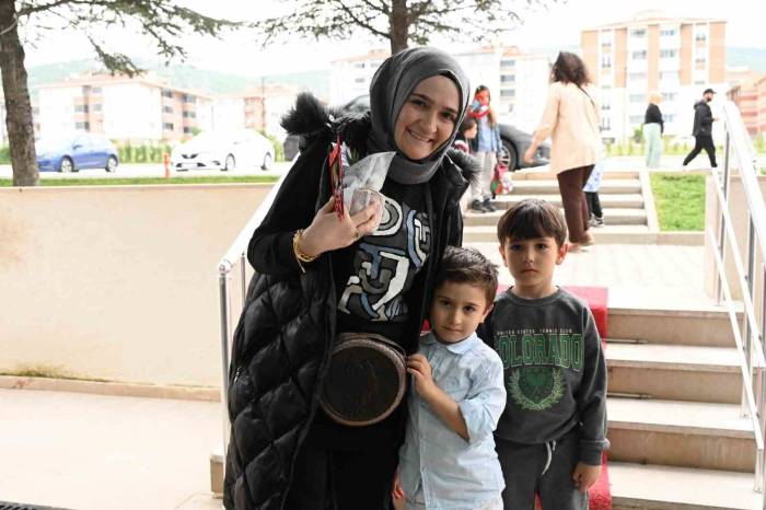
[[[370,95],[363,94],[348,103],[339,106],[337,109],[341,112],[356,112],[364,113],[370,109]],[[527,164],[522,160],[524,152],[532,143],[532,135],[524,132],[521,129],[517,129],[508,123],[500,123],[500,139],[502,140],[502,151],[500,154],[500,161],[504,163],[509,170],[514,171],[519,169],[526,169],[532,166],[539,166],[548,163],[550,160],[550,144],[547,142],[542,143],[537,151],[535,151],[535,158],[532,164]],[[289,136],[283,143],[285,158],[287,160],[292,160],[292,158],[299,151],[298,137]]]

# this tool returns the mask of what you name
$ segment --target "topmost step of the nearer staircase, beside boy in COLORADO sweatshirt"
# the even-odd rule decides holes
[[[718,306],[675,310],[610,308],[608,334],[648,344],[734,347],[728,313]]]

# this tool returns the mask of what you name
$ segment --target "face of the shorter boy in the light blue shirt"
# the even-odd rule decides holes
[[[489,304],[483,287],[445,281],[433,293],[431,327],[442,341],[464,340],[484,322]]]

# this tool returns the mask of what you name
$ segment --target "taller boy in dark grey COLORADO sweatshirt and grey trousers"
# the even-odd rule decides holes
[[[495,301],[480,334],[506,369],[508,404],[495,442],[506,509],[585,510],[606,440],[606,367],[588,305],[553,283],[567,254],[561,212],[522,200],[498,222],[515,283]]]

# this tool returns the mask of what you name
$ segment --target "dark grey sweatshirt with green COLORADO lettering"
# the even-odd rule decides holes
[[[496,434],[524,444],[574,431],[578,461],[601,464],[606,440],[606,366],[588,305],[565,289],[543,299],[509,290],[479,331],[504,368],[506,410]]]

